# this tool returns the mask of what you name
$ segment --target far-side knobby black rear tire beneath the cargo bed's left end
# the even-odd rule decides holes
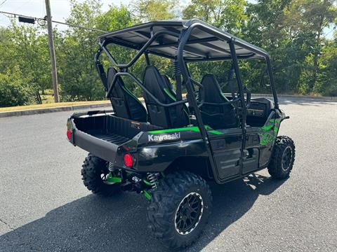
[[[101,158],[88,154],[82,165],[81,174],[84,186],[91,192],[110,196],[120,191],[120,184],[109,185],[103,182],[102,176],[109,173],[107,162]]]

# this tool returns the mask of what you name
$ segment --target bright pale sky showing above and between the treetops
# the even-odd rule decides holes
[[[50,0],[51,1],[51,13],[53,20],[65,21],[70,15],[70,1],[69,0]],[[84,0],[77,0],[83,2]],[[121,3],[128,5],[132,0],[101,0],[103,3],[102,9],[108,10],[111,4],[119,6]],[[249,0],[253,2],[254,0]],[[188,0],[181,1],[182,4],[186,4]],[[0,10],[9,13],[18,13],[20,15],[27,15],[36,18],[44,18],[46,15],[45,0],[0,0]],[[6,27],[10,24],[10,20],[0,14],[0,26]],[[55,26],[55,24],[54,24]],[[65,29],[63,25],[57,25],[60,29]],[[326,28],[324,31],[327,38],[333,37],[333,30]]]

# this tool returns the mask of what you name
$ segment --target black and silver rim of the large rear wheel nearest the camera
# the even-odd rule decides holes
[[[180,202],[176,211],[175,225],[180,235],[188,235],[200,222],[204,201],[199,193],[189,193]]]

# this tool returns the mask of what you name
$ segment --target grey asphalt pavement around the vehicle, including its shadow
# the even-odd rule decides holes
[[[337,251],[337,103],[282,100],[296,143],[287,181],[259,172],[211,185],[213,215],[188,251]],[[71,112],[0,119],[0,251],[165,251],[146,200],[81,182],[86,152],[65,139]]]

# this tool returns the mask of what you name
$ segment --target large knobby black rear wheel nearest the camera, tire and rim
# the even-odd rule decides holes
[[[211,207],[211,190],[204,179],[190,172],[173,172],[152,193],[148,226],[165,246],[184,248],[201,234]]]

